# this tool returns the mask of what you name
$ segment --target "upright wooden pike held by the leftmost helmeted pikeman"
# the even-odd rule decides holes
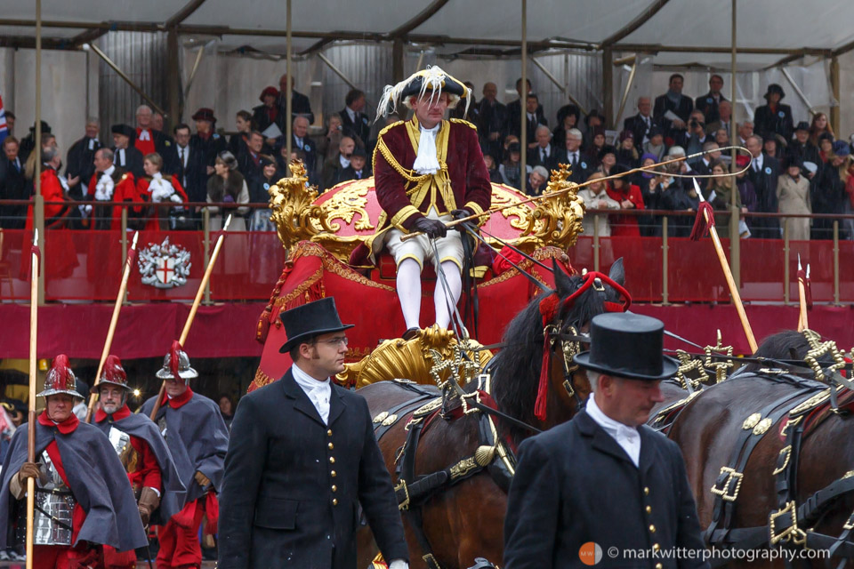
[[[36,348],[38,338],[38,229],[33,235],[30,250],[29,282],[29,400],[27,429],[27,461],[36,461]],[[36,509],[36,479],[27,478],[27,569],[33,568],[33,517]]]

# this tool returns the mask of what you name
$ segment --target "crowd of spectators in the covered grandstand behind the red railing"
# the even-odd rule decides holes
[[[649,166],[678,156],[705,151],[680,163],[637,172],[623,180],[605,180],[579,192],[592,209],[614,210],[599,216],[600,236],[658,236],[660,216],[620,214],[620,210],[646,209],[696,212],[699,196],[694,179],[700,182],[704,198],[715,210],[729,211],[733,194],[742,212],[829,213],[852,212],[854,204],[854,162],[850,145],[837,140],[823,113],[810,122],[794,123],[792,109],[782,100],[786,93],[770,84],[766,104],[755,109],[753,120],[732,122],[732,105],[721,90],[723,79],[713,75],[709,92],[691,99],[682,94],[683,77],[670,77],[667,92],[652,100],[640,97],[637,114],[626,118],[615,140],[608,140],[604,117],[596,109],[583,116],[574,104],[560,108],[554,124],[544,116],[543,106],[528,82],[527,89],[516,83],[519,99],[504,105],[496,97],[494,83],[484,84],[482,98],[471,100],[467,114],[461,105],[452,116],[476,124],[484,160],[491,180],[521,189],[529,195],[547,188],[550,171],[569,164],[571,180],[582,183]],[[468,84],[474,92],[474,85]],[[47,202],[74,199],[88,204],[45,207],[47,227],[118,228],[121,208],[99,207],[100,201],[132,202],[131,228],[199,228],[201,209],[184,207],[185,202],[234,204],[206,208],[212,228],[221,226],[222,217],[238,213],[236,230],[271,230],[263,210],[250,211],[241,204],[265,204],[268,188],[288,175],[287,164],[302,159],[309,181],[320,191],[346,180],[372,175],[370,156],[377,128],[366,113],[365,93],[351,90],[340,112],[326,116],[323,132],[310,134],[314,121],[309,99],[288,85],[282,76],[279,88],[268,86],[259,96],[260,105],[241,110],[235,117],[237,132],[228,140],[216,130],[214,110],[199,108],[194,122],[178,124],[171,133],[163,132],[163,117],[142,105],[135,124],[110,125],[112,145],[99,140],[101,124],[90,119],[85,136],[68,149],[61,160],[49,124],[43,122],[40,166],[42,193]],[[291,156],[286,156],[286,96],[291,93]],[[523,95],[524,94],[524,100]],[[522,106],[524,104],[524,111]],[[12,135],[3,142],[0,156],[0,198],[28,200],[33,194],[36,172],[35,127],[18,140],[13,135],[14,115],[7,111]],[[391,116],[386,124],[399,120]],[[526,121],[526,140],[520,140]],[[383,124],[378,125],[380,127]],[[527,168],[521,172],[521,144],[527,147]],[[738,156],[730,164],[729,151],[718,148],[738,145],[751,156]],[[733,180],[710,174],[746,172]],[[735,187],[735,188],[734,188]],[[737,189],[737,191],[734,191]],[[154,211],[150,204],[169,203]],[[729,215],[718,223],[729,225]],[[592,234],[591,219],[585,220]],[[32,224],[27,205],[0,206],[0,227],[24,228]],[[688,236],[693,220],[688,215],[668,218],[671,236]],[[789,237],[805,240],[829,239],[834,220],[791,218]],[[842,220],[841,238],[854,238],[854,223]],[[746,218],[739,222],[746,236],[780,238],[779,219]]]

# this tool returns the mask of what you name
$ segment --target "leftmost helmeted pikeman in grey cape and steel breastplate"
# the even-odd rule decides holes
[[[26,503],[27,478],[36,479],[33,566],[53,569],[100,566],[102,546],[128,551],[145,546],[131,485],[116,452],[97,427],[74,413],[75,377],[64,354],[53,360],[44,381],[47,408],[35,425],[15,432],[3,464],[0,488],[0,549],[13,525],[16,501]],[[36,429],[36,462],[27,461],[28,429]],[[18,519],[23,542],[27,512]]]

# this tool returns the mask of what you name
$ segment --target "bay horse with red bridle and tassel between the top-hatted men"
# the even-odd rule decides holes
[[[487,375],[465,386],[463,397],[439,397],[438,389],[399,381],[358,390],[375,417],[376,436],[399,501],[411,501],[403,518],[414,568],[465,569],[475,557],[500,564],[513,451],[534,434],[525,425],[544,430],[569,421],[590,394],[584,370],[568,365],[564,355],[571,362],[571,352],[580,349],[578,333],[592,317],[606,309],[627,308],[622,261],[614,263],[608,277],[568,276],[556,263],[554,275],[554,293],[535,297],[512,320]],[[548,338],[544,328],[550,331]],[[564,349],[572,343],[574,349]],[[448,399],[455,404],[449,405]],[[518,422],[472,411],[475,401]],[[413,432],[420,432],[415,443]],[[481,461],[484,454],[487,460]],[[435,487],[420,498],[411,495],[413,480],[400,484],[407,469],[416,479],[431,475],[421,479],[423,484],[435,480]],[[439,476],[443,471],[444,479]],[[376,552],[369,530],[363,528],[359,567],[367,566]]]

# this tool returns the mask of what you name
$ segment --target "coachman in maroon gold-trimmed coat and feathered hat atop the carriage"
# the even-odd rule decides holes
[[[387,85],[377,116],[388,116],[400,101],[414,111],[407,122],[385,127],[374,152],[376,198],[383,208],[378,231],[365,248],[354,252],[356,264],[367,253],[371,261],[389,248],[397,265],[400,308],[410,337],[420,327],[421,272],[424,261],[439,252],[439,267],[445,275],[436,284],[433,302],[436,323],[445,328],[451,321],[449,303],[456,304],[463,290],[463,240],[459,231],[448,232],[446,223],[489,209],[492,186],[480,151],[478,130],[461,119],[445,120],[445,112],[465,100],[471,90],[441,68],[432,67]],[[460,230],[462,230],[462,226]],[[421,232],[406,242],[401,237]]]

